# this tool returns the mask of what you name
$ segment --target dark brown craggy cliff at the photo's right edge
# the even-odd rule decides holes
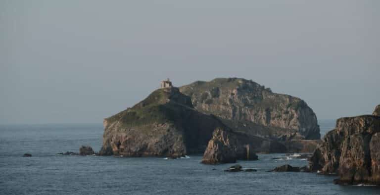
[[[338,119],[335,129],[314,151],[310,168],[323,174],[337,173],[338,183],[380,185],[380,116]]]

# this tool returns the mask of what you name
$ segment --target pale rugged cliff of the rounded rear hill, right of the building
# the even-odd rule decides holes
[[[195,109],[233,121],[295,130],[300,139],[320,139],[317,117],[300,98],[272,93],[253,81],[219,78],[180,87]]]

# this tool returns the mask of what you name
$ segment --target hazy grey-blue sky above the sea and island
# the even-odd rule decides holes
[[[242,77],[318,119],[380,103],[380,0],[0,0],[0,124],[102,122],[159,82]]]

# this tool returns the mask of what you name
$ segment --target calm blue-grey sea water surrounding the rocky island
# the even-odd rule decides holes
[[[319,122],[321,134],[334,120]],[[305,159],[285,154],[259,154],[258,161],[238,161],[257,172],[224,172],[234,164],[200,164],[201,155],[163,157],[66,156],[81,145],[99,150],[102,124],[0,126],[1,195],[375,195],[379,187],[339,186],[336,176],[266,172],[276,166],[304,166]],[[32,157],[22,157],[31,153]],[[282,159],[272,159],[283,157]],[[213,170],[216,169],[216,170]]]

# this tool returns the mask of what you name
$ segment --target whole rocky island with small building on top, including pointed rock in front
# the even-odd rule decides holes
[[[314,150],[317,118],[295,97],[238,78],[167,80],[131,108],[104,119],[100,155],[179,157],[203,153],[203,163],[257,159],[256,152]],[[316,140],[315,140],[316,139]]]

